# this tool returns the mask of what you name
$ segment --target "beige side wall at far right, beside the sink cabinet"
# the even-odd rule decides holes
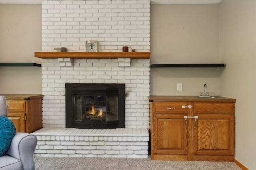
[[[235,158],[256,169],[255,73],[256,1],[222,0],[220,3],[220,95],[236,98]]]

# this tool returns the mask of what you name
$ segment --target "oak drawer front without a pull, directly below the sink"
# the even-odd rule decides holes
[[[194,102],[193,113],[196,114],[234,114],[235,104],[233,102]]]

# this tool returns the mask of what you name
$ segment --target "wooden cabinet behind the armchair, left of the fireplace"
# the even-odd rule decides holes
[[[8,118],[16,132],[32,133],[42,128],[41,94],[2,94],[7,100]]]

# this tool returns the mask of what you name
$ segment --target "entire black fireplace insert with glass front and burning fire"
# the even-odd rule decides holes
[[[66,83],[66,127],[124,128],[125,84]]]

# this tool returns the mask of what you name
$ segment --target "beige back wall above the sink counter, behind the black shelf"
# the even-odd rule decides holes
[[[219,5],[151,5],[150,64],[219,63]],[[219,68],[151,68],[150,95],[219,95]],[[177,91],[182,83],[182,91]]]

